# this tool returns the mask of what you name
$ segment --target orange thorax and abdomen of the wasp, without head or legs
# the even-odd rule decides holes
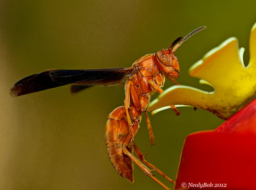
[[[129,76],[125,84],[126,92],[128,91],[127,83],[131,83],[129,86],[130,102],[128,110],[132,121],[134,136],[140,127],[141,113],[147,111],[150,97],[156,92],[148,81],[154,81],[159,87],[163,87],[164,85],[164,74],[157,67],[155,56],[155,54],[148,54],[135,61],[132,65],[134,72]],[[116,171],[122,177],[133,182],[132,160],[124,153],[122,146],[127,134],[129,134],[129,124],[127,122],[127,115],[125,114],[125,107],[121,106],[112,111],[108,116],[106,125],[106,145],[108,147],[109,159]],[[131,153],[132,140],[133,139],[130,139],[127,145],[127,149]]]

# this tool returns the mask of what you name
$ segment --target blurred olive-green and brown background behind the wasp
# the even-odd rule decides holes
[[[188,68],[231,36],[246,48],[248,62],[255,7],[256,1],[245,0],[0,1],[0,189],[161,189],[138,166],[129,184],[109,162],[105,124],[124,104],[123,86],[76,95],[63,86],[17,98],[8,94],[10,87],[48,68],[129,67],[205,25],[176,53],[178,82],[212,90],[189,77]],[[156,146],[150,146],[145,118],[135,138],[148,161],[172,178],[186,136],[223,122],[206,111],[180,111],[178,117],[171,110],[150,117]]]

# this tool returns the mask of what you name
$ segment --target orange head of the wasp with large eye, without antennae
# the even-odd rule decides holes
[[[156,64],[170,81],[173,81],[173,78],[179,78],[179,61],[173,52],[170,52],[168,49],[158,51],[156,53]]]

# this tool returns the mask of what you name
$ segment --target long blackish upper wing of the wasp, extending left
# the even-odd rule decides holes
[[[10,94],[13,97],[17,97],[66,84],[79,86],[113,86],[123,83],[125,75],[131,74],[131,72],[131,67],[88,70],[50,69],[21,79],[13,85]]]

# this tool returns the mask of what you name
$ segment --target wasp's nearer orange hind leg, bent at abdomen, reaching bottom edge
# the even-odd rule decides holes
[[[127,137],[126,137],[129,141],[129,139],[131,138],[131,134],[128,134]],[[155,182],[157,182],[157,184],[159,184],[160,186],[162,186],[164,189],[166,190],[170,190],[167,186],[165,186],[161,181],[159,181],[156,177],[153,176],[153,174],[151,173],[151,170],[149,170],[147,168],[147,166],[145,166],[143,163],[141,163],[141,161],[139,161],[133,154],[131,154],[131,152],[129,152],[129,150],[127,150],[127,140],[125,139],[124,140],[124,143],[123,143],[123,152],[124,154],[128,155],[132,161],[135,162],[135,164],[137,164],[140,169],[150,178],[152,178],[152,180],[154,180]]]

